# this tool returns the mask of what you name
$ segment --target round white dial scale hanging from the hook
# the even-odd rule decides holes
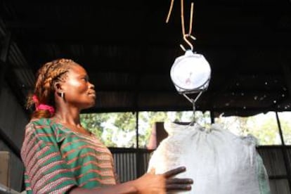
[[[171,68],[171,79],[179,93],[197,93],[206,90],[211,68],[204,56],[186,51],[176,58]]]

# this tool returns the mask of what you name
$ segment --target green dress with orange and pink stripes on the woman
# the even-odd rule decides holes
[[[27,124],[21,157],[27,193],[67,193],[75,186],[116,184],[110,150],[93,135],[71,131],[54,119]]]

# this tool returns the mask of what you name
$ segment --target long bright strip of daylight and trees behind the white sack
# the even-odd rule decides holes
[[[291,144],[291,112],[278,112],[283,140]],[[136,113],[112,112],[82,114],[82,125],[105,143],[108,147],[136,148]],[[155,122],[191,122],[193,112],[138,112],[138,147],[147,148],[150,133]],[[210,127],[210,112],[195,112],[195,122],[202,127]],[[258,145],[281,145],[281,137],[276,112],[266,112],[251,117],[216,117],[216,124],[238,136],[251,134]]]

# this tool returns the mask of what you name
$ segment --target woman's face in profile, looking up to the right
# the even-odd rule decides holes
[[[66,103],[80,110],[95,105],[94,85],[89,82],[86,70],[81,65],[72,65],[66,75],[61,84]]]

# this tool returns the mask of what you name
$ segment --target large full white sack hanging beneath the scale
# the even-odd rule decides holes
[[[193,179],[192,190],[176,193],[271,193],[253,136],[235,136],[219,124],[204,129],[167,122],[164,129],[169,136],[153,153],[148,170],[161,174],[185,166],[186,172],[176,177]]]

